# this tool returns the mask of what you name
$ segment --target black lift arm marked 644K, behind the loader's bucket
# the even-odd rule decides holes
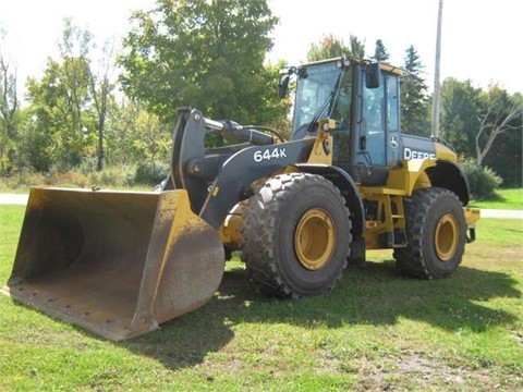
[[[204,145],[209,130],[248,142],[250,146],[242,144],[238,150],[232,146],[226,154],[212,154]],[[193,212],[218,229],[231,208],[248,197],[254,181],[305,162],[314,142],[308,138],[273,144],[272,136],[265,133],[230,121],[206,119],[197,109],[181,109],[172,149],[172,183],[187,191]]]

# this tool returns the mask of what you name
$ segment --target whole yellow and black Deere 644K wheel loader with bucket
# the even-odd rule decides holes
[[[32,188],[2,291],[119,341],[203,306],[233,250],[281,297],[331,290],[366,249],[393,249],[405,274],[451,275],[479,211],[450,146],[400,133],[400,75],[355,58],[289,68],[290,142],[179,109],[156,192]],[[209,134],[236,144],[207,147]]]

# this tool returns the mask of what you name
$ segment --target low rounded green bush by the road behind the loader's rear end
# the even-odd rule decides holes
[[[502,180],[490,168],[481,167],[472,159],[462,162],[462,168],[473,199],[495,200],[498,198],[496,189]]]

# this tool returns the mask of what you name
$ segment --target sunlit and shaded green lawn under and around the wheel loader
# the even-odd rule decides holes
[[[23,213],[0,206],[1,284]],[[0,390],[522,390],[522,223],[481,220],[451,279],[403,278],[369,252],[303,301],[262,295],[235,260],[206,306],[122,343],[0,295]]]

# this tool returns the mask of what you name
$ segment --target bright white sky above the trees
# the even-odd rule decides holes
[[[133,10],[148,10],[154,0],[0,0],[0,28],[7,33],[0,53],[16,64],[19,78],[39,77],[49,56],[56,57],[63,19],[86,28],[100,42],[117,41],[129,30]],[[426,83],[434,86],[439,0],[268,0],[280,19],[271,36],[268,61],[299,65],[312,44],[326,35],[349,45],[356,36],[367,56],[381,39],[390,62],[403,65],[413,45],[424,65]],[[519,0],[443,0],[440,81],[471,79],[476,87],[499,84],[523,93],[523,46]]]

